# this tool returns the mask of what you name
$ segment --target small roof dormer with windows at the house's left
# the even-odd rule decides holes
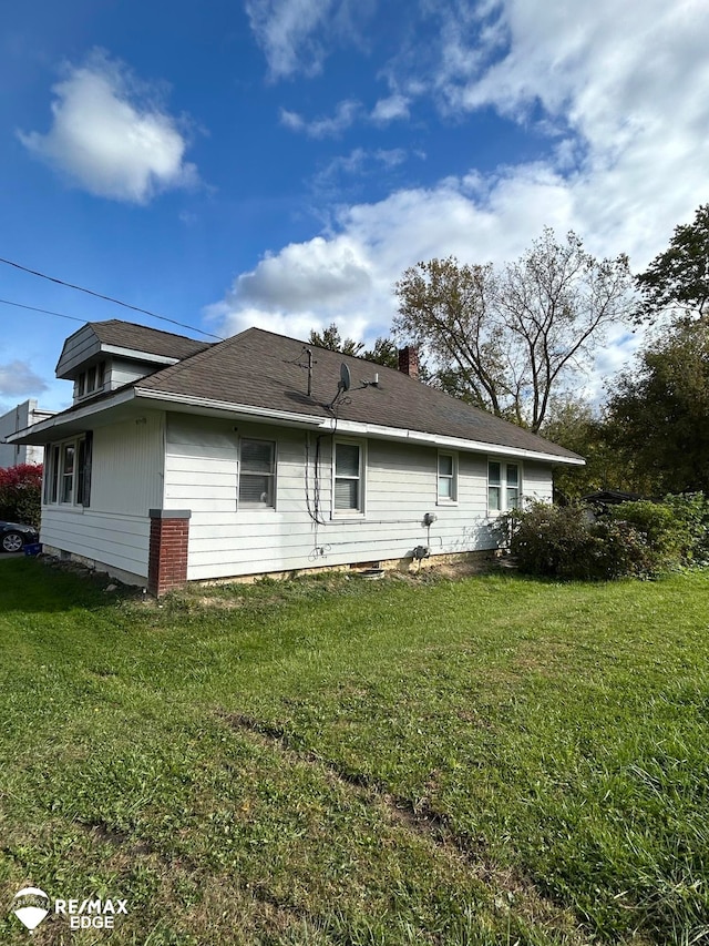
[[[70,335],[56,377],[74,383],[74,404],[115,390],[209,347],[184,335],[130,322],[89,322]]]

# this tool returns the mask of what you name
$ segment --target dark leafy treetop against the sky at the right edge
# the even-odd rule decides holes
[[[637,285],[639,321],[678,308],[709,316],[709,204],[697,208],[693,223],[675,227],[668,248],[637,276]]]

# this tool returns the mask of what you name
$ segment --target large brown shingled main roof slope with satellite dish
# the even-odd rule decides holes
[[[188,339],[185,339],[188,340]],[[204,398],[222,405],[248,405],[290,415],[350,420],[455,437],[518,450],[580,459],[576,454],[450,397],[401,372],[312,345],[312,393],[304,343],[260,328],[248,328],[205,347],[176,365],[135,383],[145,395],[160,391],[177,398]],[[340,365],[352,384],[333,406]],[[379,375],[379,384],[364,385]]]

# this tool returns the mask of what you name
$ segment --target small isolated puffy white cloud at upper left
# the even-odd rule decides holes
[[[94,52],[85,65],[68,68],[53,92],[49,132],[18,135],[72,185],[144,204],[161,191],[197,182],[195,166],[185,162],[181,122],[122,63]]]

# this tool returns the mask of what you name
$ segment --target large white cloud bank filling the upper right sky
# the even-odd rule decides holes
[[[421,57],[415,94],[434,94],[459,119],[483,108],[554,132],[548,156],[408,189],[339,207],[331,230],[274,252],[237,278],[215,315],[227,330],[254,308],[288,334],[336,321],[348,335],[387,333],[402,271],[433,256],[513,260],[544,225],[573,228],[597,256],[626,252],[636,271],[660,252],[677,223],[707,200],[709,6],[697,0],[491,0],[450,6],[435,38],[435,68]],[[411,72],[413,75],[413,72]],[[411,75],[390,77],[409,94]],[[413,94],[413,93],[411,93]],[[384,100],[386,101],[386,100]],[[349,167],[347,166],[349,161]],[[341,171],[363,166],[354,150]],[[342,247],[367,278],[340,278]],[[304,268],[302,261],[308,260]],[[268,276],[268,278],[266,278]],[[242,288],[269,286],[249,297]],[[245,281],[245,282],[244,282]],[[297,284],[289,296],[278,286]],[[322,283],[337,292],[322,292]],[[242,288],[240,288],[242,287]],[[257,302],[254,302],[254,298]],[[295,305],[290,298],[295,298]],[[288,313],[294,312],[291,322]],[[288,326],[292,326],[290,329]],[[598,354],[588,390],[630,359],[638,338],[624,326]]]

